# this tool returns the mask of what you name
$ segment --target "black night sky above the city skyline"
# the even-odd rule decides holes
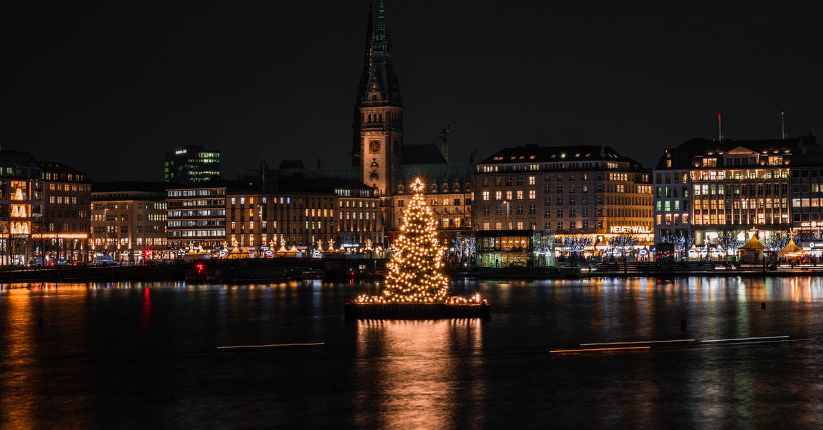
[[[161,180],[163,153],[347,165],[367,1],[18,2],[2,12],[2,149]],[[112,2],[115,3],[115,2]],[[387,2],[406,143],[450,121],[451,159],[605,143],[664,147],[823,133],[816,1]]]

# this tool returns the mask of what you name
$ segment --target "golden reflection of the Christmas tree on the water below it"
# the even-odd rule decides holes
[[[356,423],[477,425],[486,409],[480,320],[359,321]]]

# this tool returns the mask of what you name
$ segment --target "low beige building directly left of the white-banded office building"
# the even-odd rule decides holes
[[[91,192],[93,260],[141,263],[170,258],[166,245],[165,184],[106,182]]]

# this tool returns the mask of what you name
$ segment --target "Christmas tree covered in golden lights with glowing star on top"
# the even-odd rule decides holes
[[[383,299],[393,303],[443,303],[449,277],[443,273],[445,248],[439,245],[435,217],[423,199],[423,183],[412,184],[412,201],[387,264]]]

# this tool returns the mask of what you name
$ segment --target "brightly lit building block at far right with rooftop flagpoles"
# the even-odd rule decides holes
[[[800,209],[793,207],[791,183],[798,155],[807,157],[807,152],[816,150],[813,136],[695,138],[667,149],[653,171],[656,241],[688,236],[698,248],[732,252],[752,235],[768,240],[774,234],[789,234],[794,218],[802,227],[807,217],[807,227],[811,227],[811,199],[808,210],[802,206],[801,189],[807,189],[802,185],[802,171],[796,178]]]

